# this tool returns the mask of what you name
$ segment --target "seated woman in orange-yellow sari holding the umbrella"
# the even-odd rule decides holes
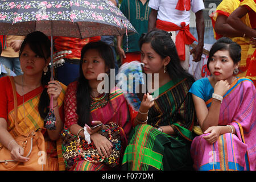
[[[18,166],[12,168],[14,170],[59,170],[56,140],[63,129],[65,86],[58,81],[50,81],[48,64],[51,60],[51,42],[48,37],[42,32],[28,34],[20,47],[19,60],[23,75],[0,79],[0,142],[10,151],[11,159],[19,162]],[[56,130],[44,128],[51,95]],[[15,100],[18,107],[15,107]],[[16,109],[18,113],[15,113]],[[20,146],[15,140],[20,135],[35,135],[32,152],[27,157],[23,155],[24,146]],[[42,159],[47,156],[42,163],[38,162],[40,155]],[[1,156],[1,160],[4,157]],[[14,166],[13,162],[0,164],[1,169],[3,166],[5,169]]]

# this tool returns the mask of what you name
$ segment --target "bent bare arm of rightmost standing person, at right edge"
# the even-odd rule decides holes
[[[242,22],[241,18],[246,15],[249,11],[246,7],[240,6],[236,10],[230,14],[227,23],[230,24],[234,29],[240,32],[244,32],[248,37],[256,38],[256,30],[246,26],[245,23]]]

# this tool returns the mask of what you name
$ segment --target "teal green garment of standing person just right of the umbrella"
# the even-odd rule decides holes
[[[133,24],[138,34],[135,32],[128,33],[128,52],[141,51],[139,48],[139,38],[143,33],[147,32],[148,16],[150,14],[150,7],[148,7],[149,0],[142,4],[139,0],[123,0],[120,10],[127,19]],[[123,50],[127,52],[126,34],[123,35]]]

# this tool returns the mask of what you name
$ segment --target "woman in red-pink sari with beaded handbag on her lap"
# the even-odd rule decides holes
[[[111,47],[104,42],[91,42],[86,44],[81,51],[80,77],[78,81],[71,82],[67,88],[65,95],[64,111],[65,126],[73,135],[80,135],[85,138],[82,129],[85,125],[96,125],[98,123],[108,124],[115,122],[122,127],[126,139],[123,144],[125,148],[127,144],[128,134],[131,129],[130,109],[127,105],[125,97],[121,89],[110,88],[104,93],[99,93],[101,80],[97,80],[101,73],[110,73],[110,69],[114,68],[114,56]],[[104,80],[105,81],[105,80]],[[101,88],[100,88],[101,89]],[[105,88],[104,88],[105,89]],[[107,92],[106,92],[107,91]],[[101,134],[98,130],[104,129],[97,127],[94,130],[86,129],[90,134],[90,139],[95,144],[99,154],[108,158],[112,152],[112,143]],[[75,163],[71,170],[75,171],[97,171],[111,170],[104,163],[90,163],[85,159]]]

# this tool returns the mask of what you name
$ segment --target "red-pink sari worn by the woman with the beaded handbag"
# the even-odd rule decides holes
[[[65,94],[64,111],[65,111],[65,125],[69,128],[71,125],[76,124],[78,121],[78,115],[76,113],[77,101],[76,101],[77,81],[68,85],[67,93]],[[90,110],[91,121],[101,121],[104,124],[109,122],[117,123],[122,131],[120,133],[122,137],[121,154],[124,152],[127,145],[127,139],[132,127],[132,121],[135,119],[137,112],[131,109],[127,104],[122,90],[119,88],[113,88],[110,90],[109,102],[104,107],[99,107]],[[103,163],[89,163],[86,160],[80,160],[75,164],[71,170],[74,171],[108,171],[112,168],[104,165]]]

